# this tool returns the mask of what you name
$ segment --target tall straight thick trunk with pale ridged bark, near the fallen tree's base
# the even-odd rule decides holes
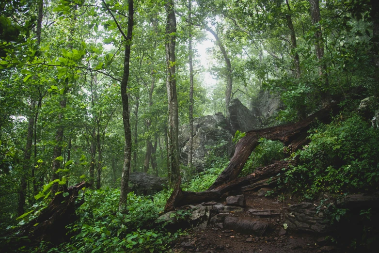
[[[167,63],[167,97],[169,109],[168,123],[168,167],[171,172],[170,185],[174,186],[180,176],[179,171],[179,140],[178,140],[178,100],[176,95],[175,80],[175,39],[176,39],[176,18],[174,12],[174,1],[167,0],[165,4],[167,12],[166,35],[166,63]]]

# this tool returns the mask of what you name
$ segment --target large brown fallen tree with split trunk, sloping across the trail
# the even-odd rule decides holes
[[[318,121],[328,124],[332,120],[332,115],[335,115],[339,111],[337,103],[332,103],[300,122],[247,132],[245,137],[238,141],[236,151],[228,166],[208,190],[203,192],[183,191],[180,188],[179,180],[174,187],[173,193],[167,200],[165,212],[172,211],[175,207],[183,205],[216,200],[221,198],[222,194],[231,190],[241,190],[242,187],[245,187],[244,190],[254,189],[254,187],[256,188],[258,185],[268,184],[270,180],[276,180],[275,176],[281,172],[283,168],[291,164],[294,165],[296,161],[277,161],[268,166],[256,169],[251,175],[238,178],[249,156],[258,146],[259,139],[266,138],[272,141],[281,141],[288,147],[288,151],[292,153],[309,142],[307,139],[309,136],[308,130],[313,123]]]

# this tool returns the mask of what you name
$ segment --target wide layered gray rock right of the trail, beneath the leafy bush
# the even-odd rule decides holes
[[[284,222],[289,229],[316,233],[330,232],[330,222],[326,221],[322,212],[316,213],[317,204],[302,202],[290,205],[288,213],[284,215]]]

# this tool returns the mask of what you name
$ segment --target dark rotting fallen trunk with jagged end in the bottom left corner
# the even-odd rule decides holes
[[[64,193],[67,192],[68,195],[64,194],[66,195],[64,197],[63,192],[55,195],[36,219],[22,225],[6,236],[10,243],[5,247],[12,248],[16,246],[19,248],[39,244],[41,241],[58,245],[69,240],[70,235],[67,235],[68,231],[65,227],[77,220],[75,210],[84,203],[84,199],[76,202],[79,190],[88,186],[89,184],[86,182],[81,182],[69,188],[62,186],[63,189],[59,190]],[[12,245],[13,240],[17,241],[16,245]]]

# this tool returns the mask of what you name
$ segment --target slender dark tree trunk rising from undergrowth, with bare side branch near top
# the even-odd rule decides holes
[[[110,11],[109,11],[110,12]],[[111,13],[111,12],[110,12]],[[127,33],[126,33],[126,45],[125,45],[125,57],[124,57],[124,74],[121,80],[121,100],[123,104],[123,123],[125,133],[125,150],[124,150],[124,164],[121,175],[121,193],[119,210],[126,210],[127,189],[129,185],[129,173],[130,173],[130,160],[131,160],[131,131],[129,123],[129,102],[127,95],[127,82],[129,79],[129,61],[130,61],[130,47],[132,42],[133,32],[133,16],[134,7],[133,0],[128,0],[128,19],[127,19]]]

